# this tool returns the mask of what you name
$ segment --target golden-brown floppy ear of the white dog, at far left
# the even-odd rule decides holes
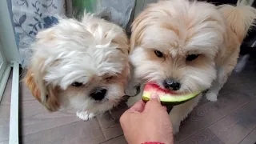
[[[29,88],[33,96],[37,98],[43,106],[46,106],[47,110],[58,110],[59,104],[58,98],[56,97],[56,88],[54,88],[53,86],[45,86],[45,82],[43,82],[42,78],[38,79],[35,77],[37,77],[36,74],[34,74],[31,69],[28,70],[24,78],[26,86]],[[39,88],[40,84],[38,83],[38,81],[43,82],[43,88],[41,88],[41,90]]]

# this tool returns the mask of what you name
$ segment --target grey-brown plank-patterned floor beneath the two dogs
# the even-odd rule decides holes
[[[240,74],[233,74],[221,90],[218,102],[205,98],[182,122],[175,144],[254,144],[256,142],[256,70],[250,63]],[[11,78],[10,78],[11,79]],[[0,144],[8,143],[10,89],[0,105]],[[104,114],[82,122],[72,111],[48,113],[21,83],[20,139],[25,144],[66,143],[126,143],[118,117],[126,110],[122,106],[112,115]]]

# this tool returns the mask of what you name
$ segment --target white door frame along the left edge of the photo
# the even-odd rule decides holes
[[[10,1],[10,0],[8,0]],[[6,0],[0,0],[0,39],[2,42],[1,54],[6,58],[6,70],[2,75],[1,85],[6,86],[12,67],[13,82],[10,98],[10,132],[9,143],[18,144],[18,86],[19,65],[21,63],[18,47],[15,42],[12,18]],[[1,102],[1,101],[0,101]]]

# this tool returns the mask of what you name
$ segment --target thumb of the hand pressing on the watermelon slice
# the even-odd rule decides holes
[[[146,106],[144,108],[144,111],[149,111],[149,110],[156,110],[162,108],[160,98],[158,94],[151,94],[150,95],[150,101],[146,102]]]

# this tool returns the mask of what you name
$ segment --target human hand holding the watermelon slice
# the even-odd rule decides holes
[[[136,102],[120,118],[122,130],[129,144],[144,142],[174,143],[173,129],[166,107],[158,94],[152,94],[146,104]]]

